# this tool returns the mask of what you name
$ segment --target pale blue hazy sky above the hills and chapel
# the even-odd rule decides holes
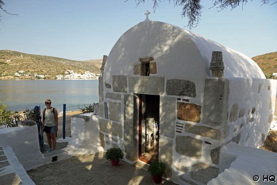
[[[152,0],[3,0],[0,11],[0,50],[61,57],[71,60],[102,59],[119,37],[145,19],[188,29],[182,7],[165,0],[153,12]],[[234,10],[218,12],[211,0],[202,0],[199,25],[191,31],[248,57],[277,51],[277,3],[261,6],[249,1]]]

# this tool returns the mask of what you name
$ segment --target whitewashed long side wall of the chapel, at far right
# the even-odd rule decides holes
[[[229,122],[230,134],[223,142],[240,133],[238,144],[260,147],[262,134],[268,135],[274,119],[277,80],[258,78],[230,78]],[[231,107],[238,106],[237,119],[230,122]],[[252,113],[252,109],[255,112]],[[238,118],[239,111],[244,109],[244,116]],[[240,128],[240,125],[243,126]],[[236,131],[234,132],[234,129]],[[265,139],[264,138],[264,139]]]

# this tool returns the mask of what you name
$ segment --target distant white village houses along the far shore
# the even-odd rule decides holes
[[[75,72],[74,70],[67,70],[64,72],[65,75],[56,75],[57,79],[98,79],[101,74],[93,73],[90,71],[85,71],[84,74],[80,74]],[[32,76],[40,79],[45,79],[46,75],[44,74],[32,74],[30,72],[25,72],[24,70],[20,70],[18,72],[13,73],[14,76]]]

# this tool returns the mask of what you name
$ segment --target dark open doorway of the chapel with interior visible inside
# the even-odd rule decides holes
[[[160,96],[139,94],[139,160],[159,160]]]

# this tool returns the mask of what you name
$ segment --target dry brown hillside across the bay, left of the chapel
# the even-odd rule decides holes
[[[29,74],[42,74],[47,79],[64,75],[67,70],[83,74],[85,71],[101,73],[98,63],[102,60],[72,61],[57,57],[25,54],[9,50],[0,50],[0,79],[32,79],[28,76],[14,76],[15,72],[25,71]]]

